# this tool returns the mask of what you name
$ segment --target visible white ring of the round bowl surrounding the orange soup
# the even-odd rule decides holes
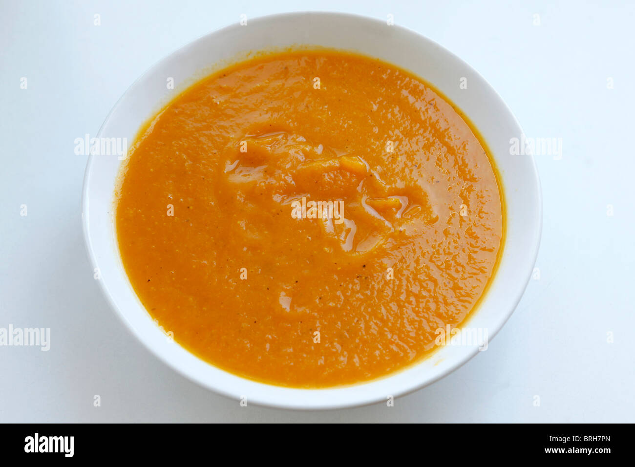
[[[97,137],[127,138],[179,90],[214,65],[245,57],[249,51],[316,45],[352,50],[398,65],[436,86],[456,104],[490,147],[502,177],[507,206],[507,235],[498,272],[470,328],[493,337],[511,316],[530,279],[542,228],[542,200],[531,156],[512,155],[510,139],[522,130],[503,100],[469,65],[430,39],[395,25],[342,13],[289,13],[248,20],[201,37],[154,65],[119,99]],[[467,78],[468,88],[459,81]],[[333,409],[399,396],[421,388],[457,369],[478,352],[475,346],[443,346],[408,369],[363,384],[330,389],[283,388],[250,381],[200,360],[166,335],[135,295],[119,257],[113,200],[121,161],[94,155],[84,177],[83,220],[93,267],[99,268],[104,294],[131,332],[156,356],[192,381],[248,403],[293,409]]]

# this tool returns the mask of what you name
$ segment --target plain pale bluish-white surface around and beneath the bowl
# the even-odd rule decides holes
[[[51,328],[51,349],[0,347],[0,422],[634,422],[635,4],[553,3],[1,0],[0,327]],[[487,351],[390,408],[239,407],[200,388],[129,334],[84,250],[74,140],[192,39],[316,9],[392,13],[490,81],[526,135],[563,140],[560,160],[537,157],[540,279]]]

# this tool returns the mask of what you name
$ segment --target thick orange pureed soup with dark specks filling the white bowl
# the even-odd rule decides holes
[[[465,320],[497,266],[485,144],[379,60],[253,58],[139,134],[117,190],[126,273],[175,341],[234,374],[315,388],[403,369]]]

